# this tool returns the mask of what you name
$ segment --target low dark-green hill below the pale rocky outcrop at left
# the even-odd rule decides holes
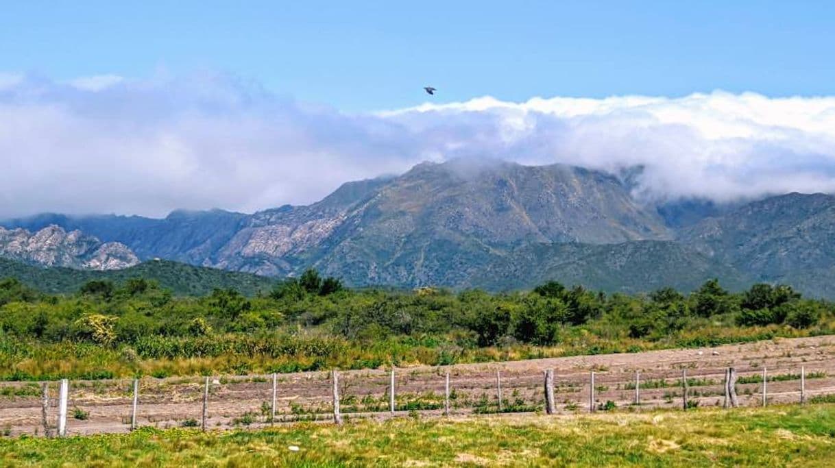
[[[221,269],[201,268],[165,260],[149,261],[127,269],[93,271],[68,268],[42,268],[0,258],[0,278],[17,278],[24,284],[48,294],[78,291],[91,280],[122,283],[130,278],[157,281],[175,295],[205,295],[215,288],[232,288],[245,295],[269,291],[274,279],[256,274],[235,273]]]

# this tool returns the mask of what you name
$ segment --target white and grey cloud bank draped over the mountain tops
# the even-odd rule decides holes
[[[646,199],[832,193],[835,97],[485,97],[342,113],[222,73],[0,73],[0,218],[251,212],[453,158],[640,166]]]

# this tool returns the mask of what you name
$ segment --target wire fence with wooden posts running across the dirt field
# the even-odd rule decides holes
[[[336,370],[292,375],[0,383],[8,435],[75,435],[156,427],[204,430],[288,422],[642,410],[803,403],[835,393],[827,366],[667,370],[519,369],[514,365]]]

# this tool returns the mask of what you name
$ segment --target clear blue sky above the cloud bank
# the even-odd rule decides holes
[[[0,71],[222,70],[346,111],[483,95],[830,95],[833,2],[4,2]]]

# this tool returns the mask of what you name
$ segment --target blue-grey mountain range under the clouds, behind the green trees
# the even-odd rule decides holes
[[[560,164],[423,163],[343,184],[315,204],[255,214],[38,214],[0,225],[16,229],[0,239],[43,229],[95,239],[100,245],[63,256],[8,254],[0,240],[0,255],[74,268],[129,263],[133,254],[279,277],[313,267],[351,285],[515,289],[557,279],[634,292],[716,277],[731,289],[784,282],[835,297],[831,195],[650,204],[635,199],[629,180]],[[91,260],[115,245],[124,251],[112,261]]]

